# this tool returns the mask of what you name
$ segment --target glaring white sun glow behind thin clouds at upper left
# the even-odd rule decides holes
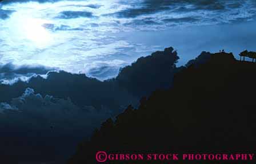
[[[39,48],[40,50],[50,46],[54,40],[53,32],[43,27],[43,24],[53,22],[40,16],[41,13],[33,10],[21,9],[13,13],[10,19],[7,19],[5,24],[3,24],[6,34],[9,33],[6,36],[9,44],[16,47],[21,46],[24,51],[29,51],[31,48]],[[2,37],[4,37],[4,33]]]

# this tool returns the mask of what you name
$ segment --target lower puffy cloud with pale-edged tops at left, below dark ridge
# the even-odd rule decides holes
[[[51,125],[55,125],[55,128],[63,130],[75,130],[82,126],[93,128],[97,126],[95,124],[97,120],[110,116],[108,111],[105,110],[99,113],[93,106],[84,106],[81,109],[74,105],[70,99],[58,99],[49,95],[43,97],[41,94],[35,93],[32,88],[26,88],[24,93],[11,100],[10,104],[1,103],[0,109],[2,109],[2,114],[7,116],[27,118],[19,122],[19,124],[30,122],[37,118],[37,121],[35,121],[37,122],[35,124],[38,124],[37,128],[47,128],[43,126],[50,128]],[[10,110],[15,110],[16,112],[10,112]],[[85,117],[87,121],[84,120]],[[95,120],[96,118],[97,120]],[[17,122],[18,120],[11,119],[11,121]],[[42,125],[43,122],[47,124]]]

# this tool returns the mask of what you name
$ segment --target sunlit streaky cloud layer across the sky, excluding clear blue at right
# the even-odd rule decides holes
[[[0,19],[0,58],[3,63],[45,64],[50,67],[57,66],[67,72],[81,71],[89,75],[90,72],[84,71],[85,63],[113,60],[113,58],[131,63],[138,57],[147,55],[142,53],[143,47],[147,46],[149,52],[153,46],[164,48],[176,43],[175,47],[184,45],[175,40],[169,42],[168,40],[173,38],[170,36],[170,39],[166,40],[169,43],[165,46],[160,45],[154,38],[148,45],[146,42],[150,41],[144,39],[141,42],[144,45],[137,46],[137,40],[140,39],[137,34],[142,31],[150,31],[152,34],[155,31],[154,37],[159,38],[158,33],[162,30],[173,31],[173,28],[189,26],[195,29],[199,27],[194,28],[194,26],[247,22],[253,20],[256,14],[255,2],[251,0],[50,2],[55,3],[34,1],[2,5],[2,10],[16,11],[10,15],[10,19]],[[42,22],[40,26],[42,25],[49,34],[47,35],[49,42],[43,42],[42,45],[40,40],[37,40],[38,37],[32,37],[29,32],[30,27],[23,23],[23,19],[35,20],[31,24]],[[37,31],[33,32],[38,34]],[[135,35],[130,37],[129,33]],[[179,39],[183,36],[181,34],[175,37]],[[207,38],[205,40],[207,41]],[[122,42],[126,43],[125,46],[129,46],[129,49],[123,48]],[[185,50],[186,47],[182,49]],[[197,54],[200,51],[201,48],[198,48]],[[91,69],[91,75],[102,80],[107,76],[112,77],[117,71],[118,68],[102,63],[101,66]],[[106,72],[106,76],[101,72]]]

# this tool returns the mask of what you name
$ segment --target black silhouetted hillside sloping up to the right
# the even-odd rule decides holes
[[[96,163],[95,154],[101,150],[114,153],[255,150],[256,64],[237,61],[226,52],[205,55],[209,57],[206,62],[191,62],[175,74],[173,88],[155,91],[148,99],[141,99],[138,109],[128,106],[115,120],[109,118],[103,122],[90,141],[79,144],[77,153],[67,163]]]

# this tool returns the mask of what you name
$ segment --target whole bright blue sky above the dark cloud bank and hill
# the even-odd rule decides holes
[[[105,80],[170,46],[178,65],[202,51],[255,51],[255,0],[0,3],[0,65],[43,65]]]

